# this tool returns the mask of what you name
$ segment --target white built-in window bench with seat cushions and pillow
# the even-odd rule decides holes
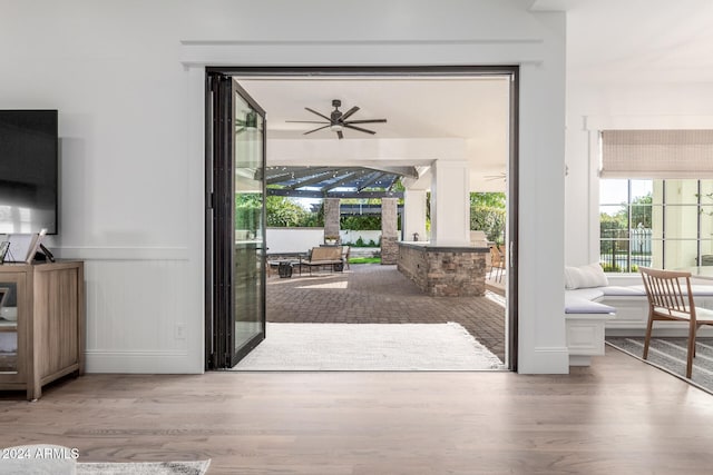
[[[626,281],[626,278],[616,279]],[[628,276],[629,281],[641,281]],[[713,309],[713,286],[693,285],[696,306]],[[570,366],[588,366],[592,356],[604,355],[604,338],[643,336],[648,319],[648,300],[643,284],[606,285],[565,290],[565,328]],[[678,321],[662,321],[657,336],[686,336],[688,327]],[[713,335],[702,328],[701,336]]]

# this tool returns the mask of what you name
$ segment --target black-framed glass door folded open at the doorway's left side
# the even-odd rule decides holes
[[[212,335],[206,367],[225,368],[265,338],[265,112],[231,77],[211,75],[208,82]]]

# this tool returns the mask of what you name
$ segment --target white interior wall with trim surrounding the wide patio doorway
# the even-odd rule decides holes
[[[0,107],[60,111],[50,244],[88,260],[88,370],[203,368],[206,65],[520,65],[519,370],[567,372],[565,24],[526,4],[0,0]]]

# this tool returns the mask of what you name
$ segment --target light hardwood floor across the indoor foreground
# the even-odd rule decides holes
[[[212,458],[209,474],[696,474],[713,396],[617,350],[568,376],[86,375],[0,399],[0,445],[80,462]]]

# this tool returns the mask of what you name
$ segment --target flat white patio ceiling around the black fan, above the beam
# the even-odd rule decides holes
[[[305,107],[329,116],[332,100],[340,110],[360,110],[350,119],[383,119],[364,126],[374,136],[345,130],[345,138],[462,138],[497,141],[507,138],[509,79],[480,78],[236,78],[266,111],[268,139],[333,140],[329,129],[303,136],[322,120]]]

